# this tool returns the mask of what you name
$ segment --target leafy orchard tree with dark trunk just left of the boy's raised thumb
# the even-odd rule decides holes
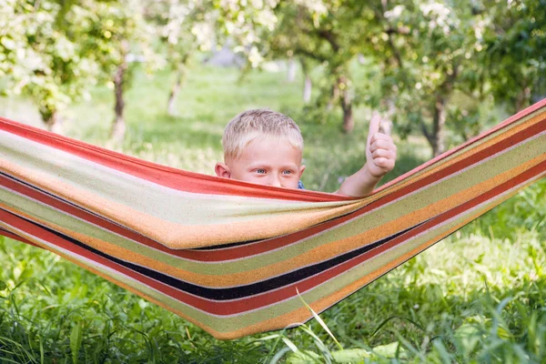
[[[355,86],[349,65],[369,38],[366,2],[300,0],[282,2],[275,9],[278,26],[269,38],[268,53],[294,55],[325,67],[326,88],[321,106],[338,104],[343,112],[343,130],[354,127]],[[304,67],[305,69],[305,67]]]

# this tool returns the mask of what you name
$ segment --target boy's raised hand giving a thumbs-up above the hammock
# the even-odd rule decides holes
[[[366,144],[366,165],[368,172],[373,177],[383,177],[389,173],[396,162],[397,148],[392,138],[379,133],[381,116],[373,113],[369,121],[368,143]]]

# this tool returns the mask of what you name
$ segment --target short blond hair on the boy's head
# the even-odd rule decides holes
[[[303,137],[294,120],[269,109],[256,109],[243,111],[227,123],[222,136],[224,160],[240,157],[248,143],[264,136],[288,140],[303,152]]]

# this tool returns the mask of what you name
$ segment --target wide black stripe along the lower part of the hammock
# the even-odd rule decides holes
[[[0,208],[0,209],[2,209],[2,208]],[[11,215],[14,215],[9,211],[5,211],[5,212],[7,212],[7,213],[9,213]],[[19,216],[16,216],[16,217],[19,217]],[[374,248],[378,248],[381,245],[388,243],[393,238],[397,238],[400,235],[414,229],[415,227],[419,227],[420,225],[423,224],[423,223],[421,223],[421,224],[418,224],[418,225],[416,225],[414,227],[407,228],[407,229],[405,229],[403,231],[400,231],[399,233],[397,233],[395,235],[390,236],[389,238],[381,239],[381,240],[379,240],[377,242],[374,242],[372,244],[369,244],[369,245],[367,245],[365,247],[349,251],[348,253],[342,254],[342,255],[340,255],[338,257],[331,258],[329,260],[325,260],[323,262],[320,262],[318,264],[315,264],[315,265],[312,265],[312,266],[309,266],[309,267],[300,268],[298,270],[295,270],[293,272],[289,272],[289,273],[280,275],[280,276],[275,277],[275,278],[269,278],[269,279],[266,279],[264,281],[260,281],[260,282],[257,282],[257,283],[252,283],[252,284],[245,285],[245,286],[237,286],[237,287],[233,287],[233,288],[206,288],[206,287],[197,286],[197,285],[192,284],[192,283],[188,283],[188,282],[186,282],[184,280],[180,280],[180,279],[177,279],[177,278],[173,278],[171,276],[167,276],[164,273],[157,272],[156,270],[153,270],[153,269],[150,269],[150,268],[142,267],[142,266],[139,266],[137,264],[126,262],[125,260],[112,257],[112,256],[107,255],[106,253],[104,253],[102,251],[97,250],[96,248],[89,247],[86,244],[84,244],[84,243],[82,243],[82,242],[80,242],[80,241],[78,241],[78,240],[76,240],[74,238],[70,238],[70,237],[66,236],[65,234],[62,234],[62,233],[60,233],[58,231],[55,231],[55,230],[53,230],[53,229],[51,229],[49,227],[45,227],[45,226],[42,226],[40,224],[37,224],[34,221],[26,219],[25,217],[19,217],[19,218],[24,219],[25,221],[35,225],[36,227],[40,227],[40,228],[42,228],[42,229],[44,229],[44,230],[46,230],[46,231],[48,231],[48,232],[50,232],[52,234],[55,234],[57,237],[63,238],[66,241],[69,241],[69,242],[75,244],[76,246],[78,246],[80,248],[85,248],[86,250],[88,250],[88,251],[90,251],[90,252],[92,252],[92,253],[100,256],[100,257],[106,258],[106,259],[108,259],[110,261],[115,262],[116,264],[119,264],[120,266],[123,266],[125,268],[129,268],[129,269],[134,270],[134,271],[136,271],[136,272],[138,272],[140,274],[143,274],[143,275],[147,276],[148,278],[156,279],[156,280],[158,280],[158,281],[160,281],[160,282],[162,282],[164,284],[167,284],[168,286],[171,286],[173,288],[177,288],[179,290],[182,290],[184,292],[193,294],[193,295],[201,297],[201,298],[207,298],[207,299],[213,299],[213,300],[219,300],[219,301],[228,300],[228,299],[238,299],[238,298],[251,297],[251,296],[254,296],[254,295],[258,295],[260,293],[268,292],[269,290],[272,290],[272,289],[287,286],[289,284],[298,282],[298,281],[300,281],[302,279],[305,279],[305,278],[312,277],[312,276],[317,275],[317,274],[319,274],[320,272],[322,272],[322,271],[324,271],[326,269],[336,267],[339,264],[342,264],[342,263],[348,261],[351,258],[356,258],[359,255],[365,254],[366,252],[368,252],[368,251],[370,251],[370,250],[372,250]],[[267,244],[267,241],[264,241],[264,243]],[[184,264],[184,262],[180,261],[180,267],[181,268],[183,268],[182,267],[183,264]]]

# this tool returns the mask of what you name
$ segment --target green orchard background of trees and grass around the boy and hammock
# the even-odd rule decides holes
[[[545,0],[0,0],[0,116],[208,175],[249,108],[298,123],[302,180],[328,192],[363,165],[373,111],[399,146],[387,181],[545,96]],[[542,180],[329,309],[361,357],[317,322],[220,342],[0,238],[0,359],[541,363],[545,195]]]

